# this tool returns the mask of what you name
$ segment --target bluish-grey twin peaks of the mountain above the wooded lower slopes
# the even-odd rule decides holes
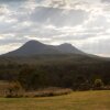
[[[4,56],[33,56],[33,55],[54,55],[54,54],[81,54],[84,52],[74,47],[72,44],[62,44],[58,46],[46,45],[38,41],[29,41],[20,48],[4,54]]]

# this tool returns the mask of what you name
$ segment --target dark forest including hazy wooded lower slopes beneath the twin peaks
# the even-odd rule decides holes
[[[0,79],[19,81],[25,90],[63,87],[91,89],[95,80],[110,85],[110,59],[85,55],[0,57]]]

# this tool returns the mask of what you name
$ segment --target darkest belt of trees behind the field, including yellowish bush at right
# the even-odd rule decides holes
[[[109,62],[58,62],[37,64],[0,64],[0,79],[18,81],[25,90],[47,87],[74,90],[96,89],[110,85]]]

